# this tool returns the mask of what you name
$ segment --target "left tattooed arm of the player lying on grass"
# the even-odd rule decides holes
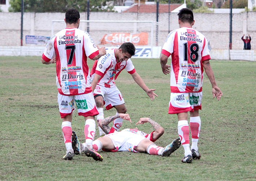
[[[112,127],[110,127],[108,124],[112,121],[114,121],[115,119],[121,117],[124,120],[128,120],[131,122],[130,116],[129,114],[122,114],[119,113],[117,115],[114,116],[110,116],[110,117],[106,117],[103,120],[97,120],[97,123],[99,124],[100,128],[106,133],[109,134],[109,131],[111,130]]]

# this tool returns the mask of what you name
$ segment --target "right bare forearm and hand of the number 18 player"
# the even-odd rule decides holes
[[[209,80],[212,84],[213,98],[216,97],[217,100],[220,101],[221,96],[222,96],[222,92],[221,92],[221,89],[217,86],[217,84],[215,82],[212,67],[210,65],[210,61],[209,60],[203,61],[203,66],[204,66],[205,73],[208,76],[208,78],[209,78]]]

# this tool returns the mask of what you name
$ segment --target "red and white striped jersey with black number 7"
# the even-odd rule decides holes
[[[56,57],[56,84],[62,95],[78,95],[92,92],[87,57],[99,54],[87,32],[77,28],[65,28],[47,43],[43,60]]]

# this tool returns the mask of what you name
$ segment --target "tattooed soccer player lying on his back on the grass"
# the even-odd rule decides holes
[[[96,152],[99,152],[99,150],[101,149],[103,151],[110,152],[147,152],[148,154],[151,155],[160,155],[163,157],[168,157],[181,146],[181,140],[179,138],[175,139],[172,143],[170,143],[164,148],[159,147],[155,143],[153,143],[157,139],[159,139],[160,136],[162,136],[162,134],[164,134],[164,129],[157,122],[151,120],[148,117],[140,118],[136,125],[149,122],[155,129],[155,131],[153,131],[151,134],[146,134],[142,131],[139,131],[137,128],[124,129],[118,132],[113,127],[110,127],[109,123],[119,117],[131,122],[129,115],[123,113],[119,113],[117,115],[104,118],[103,120],[100,120],[98,122],[101,129],[105,133],[107,133],[107,135],[93,141],[92,147]],[[81,152],[84,152],[84,148],[86,148],[86,143],[80,144],[77,135],[74,131],[72,134],[72,146],[75,154],[80,154]]]

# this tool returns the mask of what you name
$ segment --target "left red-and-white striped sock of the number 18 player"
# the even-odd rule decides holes
[[[192,153],[189,145],[189,127],[187,120],[178,121],[178,134],[185,151],[185,157],[191,155]]]

